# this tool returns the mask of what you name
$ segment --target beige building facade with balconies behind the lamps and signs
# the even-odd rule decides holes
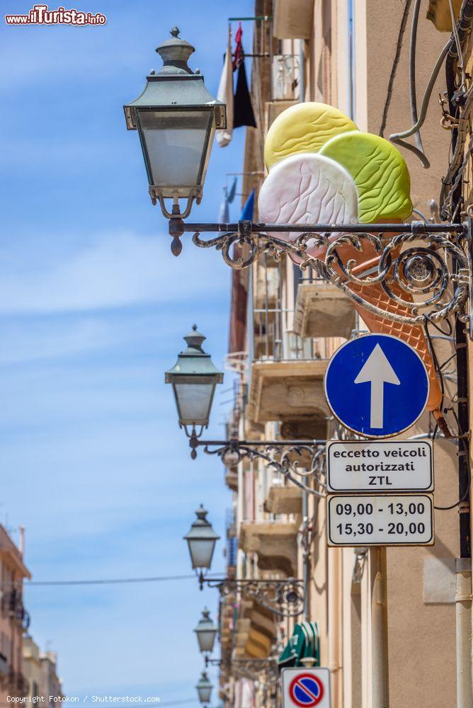
[[[457,22],[460,5],[452,4]],[[278,115],[298,103],[321,102],[341,109],[362,131],[386,138],[403,132],[421,115],[423,93],[452,32],[450,5],[441,0],[256,0],[254,16],[251,100],[257,127],[246,130],[241,192],[245,200],[254,190],[256,202],[267,175],[266,136]],[[472,19],[473,12],[470,27]],[[468,84],[472,53],[465,49],[466,31],[460,40],[470,56],[470,64],[460,69]],[[459,130],[451,84],[459,69],[455,64],[450,80],[449,61],[452,70],[448,58],[447,72],[442,64],[431,81],[421,140],[408,139],[417,154],[399,146],[411,176],[411,218],[427,224],[460,215],[451,167],[452,130]],[[465,160],[459,187],[465,213],[471,200],[471,149],[469,122],[463,120],[465,137],[457,153],[460,163]],[[450,179],[446,187],[445,176]],[[258,221],[257,212],[253,220]],[[234,271],[227,364],[239,385],[230,427],[241,440],[253,441],[323,442],[341,435],[324,399],[324,372],[336,348],[366,329],[351,299],[287,256],[275,261],[266,254],[248,270]],[[450,331],[430,335],[444,372],[443,405],[457,411],[458,339]],[[320,665],[331,672],[334,708],[387,705],[373,695],[380,649],[389,656],[391,708],[455,704],[455,559],[461,550],[459,509],[469,515],[468,490],[459,505],[458,441],[438,434],[428,413],[401,437],[416,435],[435,438],[435,545],[389,547],[385,558],[363,547],[327,545],[326,499],[317,494],[324,473],[321,467],[314,472],[304,451],[301,474],[293,479],[275,472],[268,461],[248,457],[225,470],[233,499],[229,576],[304,583],[304,607],[297,617],[281,617],[244,593],[222,597],[220,697],[225,706],[280,704],[278,657],[302,621],[317,622]],[[464,452],[460,446],[460,456]],[[304,476],[310,469],[314,474]],[[316,493],[304,491],[297,481]],[[468,582],[471,593],[471,577]],[[379,594],[380,584],[387,587],[387,599]],[[388,627],[387,646],[381,647],[373,619],[380,603]],[[469,672],[471,680],[471,662]]]

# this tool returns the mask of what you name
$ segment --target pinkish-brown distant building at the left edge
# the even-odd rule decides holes
[[[23,606],[23,578],[30,578],[20,548],[0,524],[0,704],[7,697],[23,697],[28,684],[23,675],[23,633],[30,617]]]

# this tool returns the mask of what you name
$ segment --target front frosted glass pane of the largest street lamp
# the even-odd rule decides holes
[[[157,187],[200,185],[207,154],[210,110],[140,110],[152,183]]]

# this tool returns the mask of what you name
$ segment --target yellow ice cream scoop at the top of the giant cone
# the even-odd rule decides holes
[[[268,170],[297,152],[319,152],[331,138],[358,130],[353,120],[326,103],[297,103],[283,110],[271,124],[264,143]]]

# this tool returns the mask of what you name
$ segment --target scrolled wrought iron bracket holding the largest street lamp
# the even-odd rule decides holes
[[[302,270],[311,269],[360,307],[400,324],[422,326],[455,313],[472,321],[465,313],[467,299],[473,295],[470,217],[462,224],[186,224],[181,220],[178,229],[179,236],[193,232],[195,246],[221,251],[225,263],[236,270],[249,268],[262,253],[275,261],[285,253],[297,256]],[[209,232],[220,235],[200,238]],[[176,224],[170,233],[176,238]],[[300,235],[287,241],[278,234],[290,234],[290,239]],[[234,244],[244,248],[232,250]],[[338,252],[347,244],[360,252],[369,244],[377,263],[357,276],[355,261],[343,261]],[[309,246],[323,247],[324,255],[311,256]],[[369,302],[363,287],[376,284],[400,307],[382,309]],[[473,337],[473,324],[469,333]]]

